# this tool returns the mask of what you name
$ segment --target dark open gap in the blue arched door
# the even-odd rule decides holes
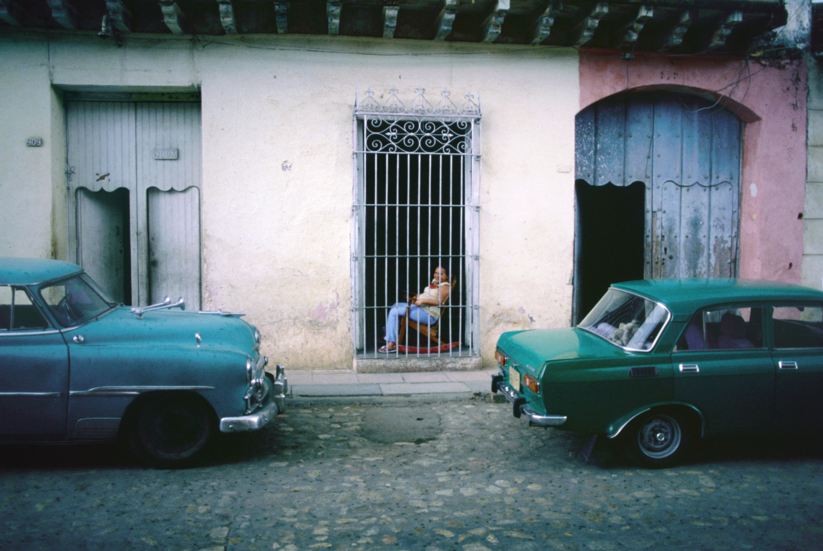
[[[644,277],[644,202],[642,182],[630,186],[574,183],[577,231],[574,243],[574,315],[577,324],[619,281]]]

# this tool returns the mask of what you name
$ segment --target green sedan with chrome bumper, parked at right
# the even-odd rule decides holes
[[[823,292],[756,280],[611,285],[579,326],[497,341],[491,389],[532,425],[681,461],[713,433],[823,428]]]

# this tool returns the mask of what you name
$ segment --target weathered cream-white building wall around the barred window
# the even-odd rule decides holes
[[[484,363],[502,331],[569,323],[574,49],[300,36],[127,37],[118,47],[21,33],[0,35],[0,58],[14,60],[0,76],[0,193],[13,205],[0,213],[3,254],[65,257],[64,197],[53,197],[64,156],[48,149],[64,148],[63,120],[49,84],[199,89],[204,308],[246,312],[274,362],[349,368],[356,90],[396,86],[411,100],[422,86],[437,100],[448,89],[458,104],[479,94],[483,113]],[[56,138],[26,148],[21,127]],[[30,231],[12,239],[24,223]]]

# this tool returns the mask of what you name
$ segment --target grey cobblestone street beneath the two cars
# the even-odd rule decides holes
[[[4,447],[0,549],[823,549],[817,446],[714,440],[638,470],[587,443],[477,397],[292,404],[186,470]]]

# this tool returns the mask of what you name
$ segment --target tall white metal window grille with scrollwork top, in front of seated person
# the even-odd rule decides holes
[[[406,330],[400,355],[477,356],[480,103],[444,90],[437,104],[416,90],[355,103],[352,231],[353,336],[362,358],[385,357],[389,309],[430,284],[442,266],[454,284],[440,306],[437,340]],[[441,344],[442,343],[442,344]]]

